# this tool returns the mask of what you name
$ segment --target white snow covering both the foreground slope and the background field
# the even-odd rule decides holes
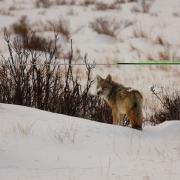
[[[70,0],[69,0],[70,1]],[[179,0],[156,0],[149,13],[133,13],[136,4],[121,4],[121,10],[95,10],[95,5],[53,5],[35,7],[36,0],[0,0],[0,54],[9,57],[3,39],[3,28],[11,31],[11,25],[22,15],[27,15],[38,34],[53,38],[53,31],[42,31],[42,22],[57,22],[65,18],[70,22],[73,52],[76,62],[85,53],[88,62],[95,61],[92,72],[112,79],[125,87],[138,89],[144,99],[144,112],[159,107],[160,102],[152,95],[150,87],[178,89],[179,68],[169,66],[112,65],[116,62],[163,61],[161,51],[169,50],[170,59],[180,57]],[[55,0],[54,0],[55,2]],[[67,1],[66,1],[67,2]],[[114,2],[96,0],[96,2]],[[117,38],[98,34],[89,23],[95,18],[115,18],[119,23],[126,20],[132,25],[123,28]],[[38,24],[41,24],[38,27]],[[146,37],[135,37],[134,31],[143,31]],[[12,34],[11,38],[15,35]],[[156,39],[162,37],[164,44]],[[70,50],[70,40],[59,34],[60,51]],[[75,53],[79,52],[78,55]],[[64,58],[58,59],[64,62]],[[81,82],[85,82],[84,67],[80,68]],[[95,93],[95,86],[91,89]],[[145,113],[144,113],[145,114]],[[53,114],[28,107],[0,104],[0,179],[179,179],[180,172],[180,123],[169,121],[156,127],[146,126],[137,131],[130,128],[101,124],[85,119]],[[23,131],[24,130],[24,131]]]

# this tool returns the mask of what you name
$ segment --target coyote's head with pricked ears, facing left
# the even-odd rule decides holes
[[[99,96],[107,96],[112,91],[111,81],[112,77],[109,74],[106,79],[103,79],[99,75],[96,76],[97,78],[97,87],[96,92]]]

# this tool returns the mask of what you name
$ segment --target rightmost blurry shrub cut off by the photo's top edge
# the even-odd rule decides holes
[[[132,12],[149,13],[153,0],[139,0],[136,5],[131,8]]]

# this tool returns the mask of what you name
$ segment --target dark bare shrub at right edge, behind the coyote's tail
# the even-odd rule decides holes
[[[159,92],[155,88],[159,89]],[[171,91],[172,90],[172,91]],[[165,89],[163,87],[152,86],[151,92],[162,104],[162,108],[155,109],[153,115],[148,115],[145,123],[157,125],[164,121],[180,119],[180,93],[173,87]]]

